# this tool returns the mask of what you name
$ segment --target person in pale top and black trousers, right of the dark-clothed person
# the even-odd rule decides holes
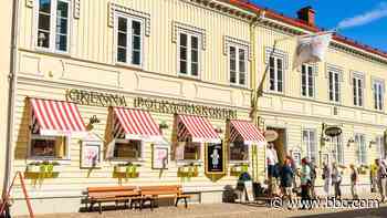
[[[311,167],[308,166],[306,158],[301,160],[301,209],[307,209],[306,207],[311,207]]]

